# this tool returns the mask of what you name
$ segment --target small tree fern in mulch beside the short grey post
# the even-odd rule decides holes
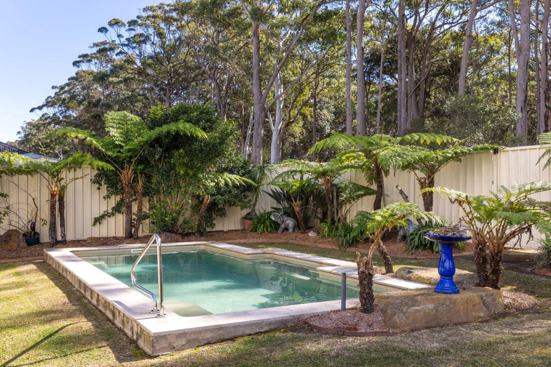
[[[362,257],[360,253],[356,253],[356,265],[358,266],[358,281],[360,287],[360,310],[364,313],[372,313],[374,310],[375,298],[373,295],[373,276],[375,270],[373,267],[373,251],[375,248],[383,247],[382,237],[388,229],[396,226],[406,226],[406,218],[414,217],[419,220],[425,220],[436,225],[446,224],[446,218],[436,215],[433,212],[425,212],[417,204],[410,202],[395,202],[389,204],[382,209],[371,212],[359,211],[353,219],[353,223],[361,224],[365,228],[364,237],[369,238],[370,247],[368,255]],[[383,254],[390,260],[388,253]],[[392,261],[390,261],[390,269],[387,269],[387,261],[385,261],[385,269],[387,272],[393,272]]]

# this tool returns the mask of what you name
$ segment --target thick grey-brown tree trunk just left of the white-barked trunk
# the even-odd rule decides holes
[[[262,149],[264,147],[264,100],[260,80],[260,23],[252,22],[252,94],[255,107],[255,125],[252,136],[251,160],[262,163]]]

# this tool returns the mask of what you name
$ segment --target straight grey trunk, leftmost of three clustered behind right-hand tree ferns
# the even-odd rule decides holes
[[[406,91],[406,0],[398,4],[398,135],[406,133],[407,91]]]

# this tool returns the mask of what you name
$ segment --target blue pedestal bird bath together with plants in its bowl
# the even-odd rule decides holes
[[[440,281],[434,287],[436,293],[455,294],[459,293],[459,288],[453,282],[455,274],[455,264],[453,263],[453,247],[458,242],[471,239],[458,226],[433,228],[425,233],[423,237],[440,244],[440,261],[438,262],[438,273]]]

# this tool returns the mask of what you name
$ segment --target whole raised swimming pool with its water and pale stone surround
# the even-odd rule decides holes
[[[354,262],[283,249],[249,249],[219,242],[163,244],[166,317],[150,313],[152,300],[131,285],[130,267],[142,245],[52,248],[44,260],[150,355],[190,349],[293,325],[358,302]],[[157,291],[156,255],[136,269],[139,284]],[[429,288],[375,275],[376,292]]]

